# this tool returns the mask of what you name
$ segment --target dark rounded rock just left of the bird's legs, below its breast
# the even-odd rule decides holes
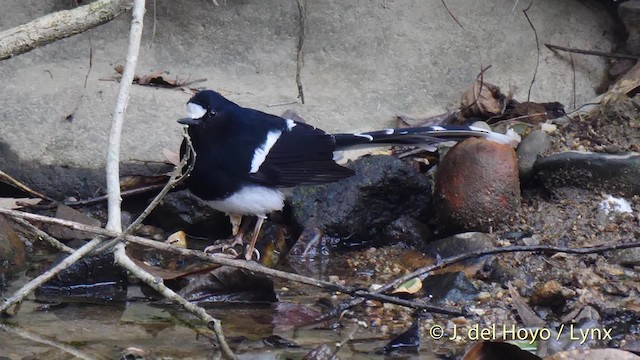
[[[168,232],[184,230],[192,236],[213,239],[228,238],[231,234],[229,217],[189,190],[168,193],[146,222]]]

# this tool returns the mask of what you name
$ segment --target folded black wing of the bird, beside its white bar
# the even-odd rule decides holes
[[[271,186],[324,184],[353,175],[333,160],[334,138],[313,126],[294,122],[267,153],[251,180]]]

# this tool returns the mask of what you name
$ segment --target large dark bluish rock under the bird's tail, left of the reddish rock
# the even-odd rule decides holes
[[[411,164],[390,156],[365,156],[347,166],[356,175],[293,191],[293,214],[300,225],[318,227],[343,239],[343,245],[355,246],[385,244],[385,228],[403,216],[427,218],[431,185]]]

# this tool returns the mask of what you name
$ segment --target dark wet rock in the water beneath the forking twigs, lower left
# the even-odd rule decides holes
[[[60,255],[52,266],[66,258]],[[36,289],[38,301],[108,303],[127,298],[127,272],[113,253],[80,259]]]

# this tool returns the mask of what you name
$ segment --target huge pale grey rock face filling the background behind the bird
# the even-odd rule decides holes
[[[487,81],[504,89],[511,84],[523,89],[516,98],[524,100],[536,67],[536,42],[522,14],[528,5],[524,2],[515,8],[507,0],[447,2],[464,30],[439,0],[309,2],[302,105],[296,101],[296,1],[218,3],[147,2],[136,72],[166,70],[172,78],[207,78],[195,86],[217,89],[231,100],[272,113],[293,107],[311,124],[336,132],[386,127],[396,114],[444,112],[458,104],[481,63],[492,65],[485,73]],[[5,0],[0,30],[71,4]],[[563,21],[558,21],[558,14]],[[579,0],[535,2],[529,15],[540,43],[611,48],[602,35],[610,33],[610,20],[598,6],[584,6]],[[0,152],[0,169],[28,184],[37,183],[42,191],[61,181],[76,196],[104,186],[102,167],[118,83],[102,79],[114,76],[113,67],[124,62],[129,22],[125,14],[88,33],[2,61],[0,143],[6,147]],[[93,56],[88,73],[89,39]],[[577,103],[594,96],[603,59],[574,56],[572,67],[568,56],[544,47],[540,51],[532,100],[571,103],[574,93],[566,84],[574,75]],[[133,86],[123,161],[161,160],[162,148],[176,150],[180,127],[175,119],[184,115],[189,96]],[[291,102],[295,104],[278,105]],[[7,157],[7,150],[17,158]],[[24,162],[29,166],[21,167]],[[46,175],[27,176],[40,165]],[[66,168],[95,171],[70,173]]]

